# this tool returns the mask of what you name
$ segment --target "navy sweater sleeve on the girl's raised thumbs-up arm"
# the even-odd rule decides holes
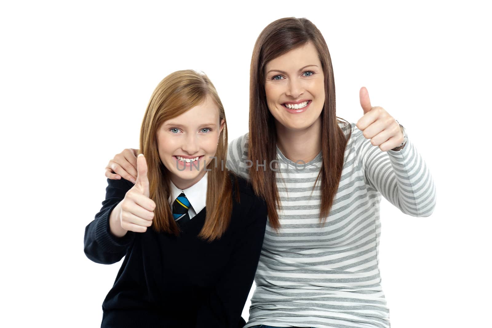
[[[101,210],[94,220],[87,225],[84,234],[84,252],[96,263],[112,264],[120,261],[126,254],[127,248],[133,242],[135,233],[127,231],[123,237],[116,237],[109,230],[111,211],[123,200],[132,183],[124,179],[108,179],[106,199],[102,202]]]

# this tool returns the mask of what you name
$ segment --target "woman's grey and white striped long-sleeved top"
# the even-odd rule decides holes
[[[410,140],[399,152],[382,152],[351,126],[324,227],[319,222],[319,181],[311,193],[321,153],[303,169],[277,148],[281,229],[277,233],[267,224],[245,328],[390,327],[378,268],[381,195],[405,214],[429,216],[435,187]],[[229,144],[227,163],[246,178],[247,140],[246,133]]]

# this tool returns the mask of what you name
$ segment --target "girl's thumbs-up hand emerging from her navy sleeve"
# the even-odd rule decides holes
[[[126,231],[145,232],[148,227],[152,226],[155,202],[149,198],[149,195],[147,162],[144,155],[140,154],[137,157],[137,180],[135,185],[126,192],[123,200],[113,209],[115,213],[118,213],[118,210],[120,211],[118,221],[121,225],[121,228],[112,228],[110,226],[113,234],[122,237],[126,234]]]

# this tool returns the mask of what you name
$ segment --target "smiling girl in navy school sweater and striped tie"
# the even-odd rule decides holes
[[[211,161],[225,162],[227,126],[207,76],[177,71],[159,83],[140,149],[135,184],[108,180],[84,236],[92,261],[125,257],[101,327],[243,327],[266,206]]]

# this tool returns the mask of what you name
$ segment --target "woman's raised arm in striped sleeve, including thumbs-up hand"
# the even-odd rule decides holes
[[[409,140],[400,146],[404,140],[400,125],[383,107],[371,106],[365,87],[359,98],[364,116],[352,129],[366,184],[405,214],[431,215],[435,186],[426,163]]]

